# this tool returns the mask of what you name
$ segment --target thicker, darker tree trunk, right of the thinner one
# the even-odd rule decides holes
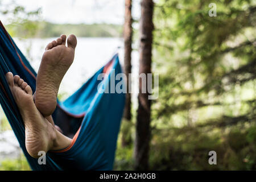
[[[141,1],[139,74],[145,73],[146,77],[147,73],[151,73],[152,31],[154,29],[152,22],[153,9],[154,3],[152,0]],[[139,80],[139,106],[134,151],[136,170],[148,169],[148,151],[150,149],[151,101],[148,100],[148,90],[146,93],[142,93],[142,85],[141,80]]]

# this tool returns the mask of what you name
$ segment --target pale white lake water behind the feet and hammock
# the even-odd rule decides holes
[[[30,61],[32,67],[38,72],[41,57],[46,45],[56,38],[48,39],[18,39],[15,43]],[[121,47],[121,48],[118,48]],[[104,66],[114,55],[119,53],[120,63],[123,65],[123,40],[119,38],[77,38],[75,59],[63,78],[59,93],[65,93],[67,98],[92,76],[98,69]],[[138,52],[132,54],[132,72],[138,73]],[[132,96],[134,105],[137,103],[137,94]],[[5,117],[0,110],[0,119]],[[0,159],[15,158],[19,156],[19,144],[13,131],[0,130]]]

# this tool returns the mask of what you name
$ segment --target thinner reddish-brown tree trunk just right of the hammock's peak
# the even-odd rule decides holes
[[[129,73],[131,73],[131,44],[133,38],[133,18],[131,16],[131,3],[132,0],[125,0],[125,24],[123,27],[123,38],[125,40],[125,75],[127,78],[127,93],[126,93],[126,104],[123,112],[124,122],[131,121],[131,94],[129,93],[130,82]],[[123,125],[123,127],[129,127],[130,125]],[[131,143],[130,129],[124,129],[122,132],[122,146],[128,146]]]

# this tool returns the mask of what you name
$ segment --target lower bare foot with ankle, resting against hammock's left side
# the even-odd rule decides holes
[[[38,158],[39,151],[60,150],[69,146],[71,139],[60,134],[36,109],[30,86],[11,72],[6,73],[6,80],[24,121],[28,154]]]

